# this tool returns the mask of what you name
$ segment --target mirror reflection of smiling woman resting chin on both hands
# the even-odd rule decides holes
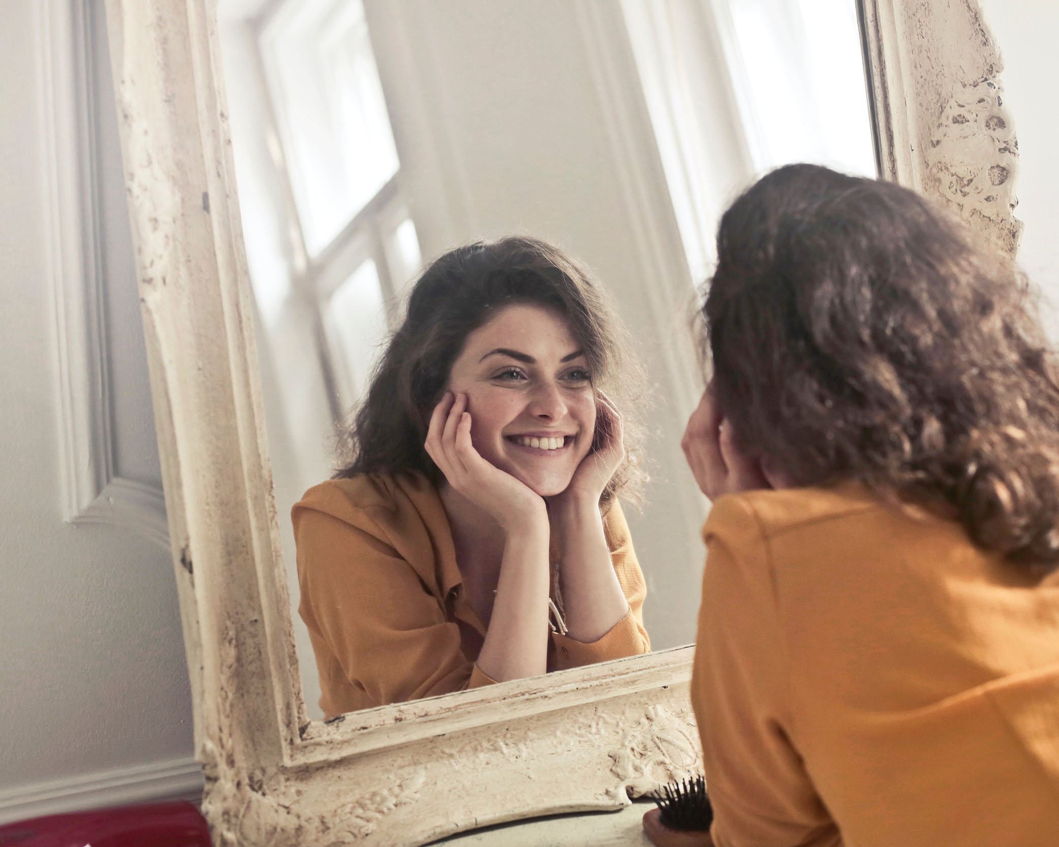
[[[615,494],[639,471],[598,286],[534,238],[424,272],[348,433],[292,511],[327,717],[650,649]],[[611,389],[613,391],[613,389]]]

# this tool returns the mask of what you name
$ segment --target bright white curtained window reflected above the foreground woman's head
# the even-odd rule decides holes
[[[717,220],[766,170],[875,176],[855,0],[622,0],[696,282]]]

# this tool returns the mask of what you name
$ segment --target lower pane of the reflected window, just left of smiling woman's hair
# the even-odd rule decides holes
[[[375,263],[369,259],[338,287],[324,308],[339,400],[344,409],[367,389],[387,335],[387,308]]]

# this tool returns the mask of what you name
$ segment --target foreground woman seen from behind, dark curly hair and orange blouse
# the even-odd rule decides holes
[[[693,679],[717,847],[1059,844],[1059,374],[1026,286],[897,185],[724,214]],[[723,497],[722,497],[723,495]]]

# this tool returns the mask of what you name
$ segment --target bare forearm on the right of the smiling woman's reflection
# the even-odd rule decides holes
[[[567,634],[590,644],[629,612],[617,581],[596,501],[557,503],[551,515],[558,539],[560,585]]]

